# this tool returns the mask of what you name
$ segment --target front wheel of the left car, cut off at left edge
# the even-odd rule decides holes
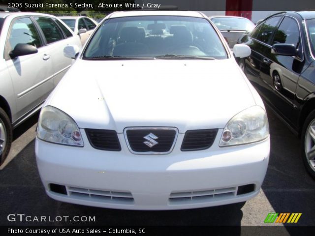
[[[12,126],[10,119],[0,108],[0,165],[7,157],[12,144]]]

